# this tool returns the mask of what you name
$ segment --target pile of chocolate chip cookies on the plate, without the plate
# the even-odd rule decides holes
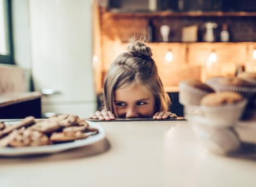
[[[98,133],[86,121],[72,114],[35,120],[27,117],[17,124],[0,122],[0,147],[42,146],[84,139]]]

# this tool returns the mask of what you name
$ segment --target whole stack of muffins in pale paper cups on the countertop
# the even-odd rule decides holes
[[[185,118],[195,124],[197,134],[209,151],[229,154],[239,149],[240,139],[234,126],[248,99],[256,93],[252,82],[221,76],[205,83],[194,79],[180,82]]]

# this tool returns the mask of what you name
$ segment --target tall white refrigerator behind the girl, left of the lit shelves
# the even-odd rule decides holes
[[[92,1],[30,0],[31,72],[42,113],[95,112]]]

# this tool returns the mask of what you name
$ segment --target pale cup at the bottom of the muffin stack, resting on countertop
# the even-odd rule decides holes
[[[238,134],[233,128],[216,128],[196,125],[195,130],[203,146],[215,154],[230,154],[240,147]]]

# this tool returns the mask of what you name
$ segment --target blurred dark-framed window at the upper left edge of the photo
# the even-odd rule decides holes
[[[14,63],[11,36],[11,0],[0,0],[0,63]]]

